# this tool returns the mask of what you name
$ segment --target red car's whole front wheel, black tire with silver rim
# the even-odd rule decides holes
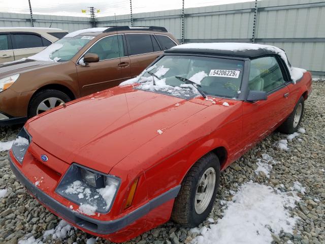
[[[203,184],[205,180],[208,182],[206,186]],[[218,157],[208,153],[199,159],[184,177],[174,201],[172,219],[190,228],[202,223],[212,210],[219,181]]]

